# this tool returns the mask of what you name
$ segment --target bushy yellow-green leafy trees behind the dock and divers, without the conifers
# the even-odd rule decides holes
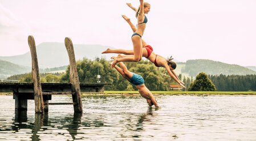
[[[124,62],[129,71],[135,72],[143,76],[145,85],[152,91],[169,91],[170,85],[177,85],[177,83],[169,76],[165,68],[156,67],[153,63],[142,60],[140,62]],[[117,64],[118,65],[118,64]],[[109,61],[104,58],[99,61],[92,61],[91,59],[83,58],[76,62],[78,69],[78,77],[80,83],[96,83],[97,75],[101,76],[101,83],[111,83],[110,86],[105,86],[105,90],[111,91],[129,91],[136,90],[126,79],[123,78],[115,69],[109,65]],[[40,74],[41,82],[70,82],[69,66],[64,73],[42,73]],[[182,75],[178,76],[180,79]],[[32,82],[31,73],[22,75],[13,75],[8,79],[19,80],[20,82]],[[187,84],[190,79],[185,78]]]

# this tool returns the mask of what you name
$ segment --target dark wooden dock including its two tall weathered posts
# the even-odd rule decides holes
[[[104,92],[108,83],[79,83],[74,47],[70,38],[64,42],[70,60],[70,83],[41,83],[34,37],[28,37],[31,61],[32,83],[0,82],[0,92],[13,92],[15,110],[27,110],[27,100],[35,101],[35,113],[48,112],[48,105],[74,105],[75,113],[83,112],[81,92]],[[51,103],[52,95],[71,95],[72,101]]]

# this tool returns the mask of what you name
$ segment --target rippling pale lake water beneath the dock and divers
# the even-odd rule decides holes
[[[83,96],[72,105],[49,105],[35,114],[15,112],[13,96],[0,95],[0,140],[256,140],[256,96]],[[52,96],[50,102],[71,102]]]

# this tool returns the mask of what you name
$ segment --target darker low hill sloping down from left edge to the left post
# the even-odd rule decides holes
[[[31,71],[31,67],[16,65],[11,62],[3,61],[1,59],[0,66],[0,79],[7,78],[10,75],[22,74]]]

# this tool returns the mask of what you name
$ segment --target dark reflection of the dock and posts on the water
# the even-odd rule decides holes
[[[78,129],[81,125],[90,126],[90,123],[82,123],[83,114],[74,113],[72,117],[57,117],[55,119],[48,118],[48,113],[35,114],[34,121],[28,121],[27,111],[15,111],[13,119],[13,126],[11,129],[15,131],[15,134],[22,134],[25,131],[26,135],[29,135],[32,140],[49,139],[44,134],[54,131],[58,134],[63,134],[62,129],[66,129],[68,134],[75,139],[78,135]],[[96,123],[97,125],[103,125],[103,123]],[[60,129],[60,131],[56,131]]]

